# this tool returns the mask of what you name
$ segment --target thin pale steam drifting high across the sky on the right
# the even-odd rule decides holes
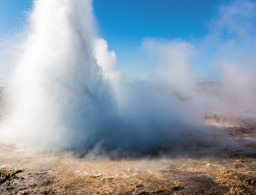
[[[255,13],[255,2],[233,1],[220,7],[199,41],[145,38],[142,48],[157,65],[155,81],[190,100],[195,113],[256,113]],[[209,78],[218,82],[198,82]]]

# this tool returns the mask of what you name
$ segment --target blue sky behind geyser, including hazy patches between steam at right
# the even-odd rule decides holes
[[[0,0],[0,37],[22,28],[25,24],[23,21],[26,20],[26,11],[31,9],[31,1]],[[212,58],[219,55],[219,48],[222,46],[233,41],[232,48],[229,48],[231,51],[238,47],[253,50],[250,41],[244,39],[245,34],[241,36],[238,32],[238,29],[244,30],[241,32],[250,31],[247,36],[255,33],[255,28],[251,27],[256,24],[253,19],[256,10],[253,2],[94,0],[93,7],[99,35],[107,40],[109,49],[116,52],[118,70],[134,77],[148,77],[153,66],[149,65],[151,59],[147,58],[151,53],[142,49],[145,37],[165,40],[166,43],[163,44],[180,39],[192,44],[197,52],[201,52],[201,56],[192,61],[192,69],[201,72],[203,79],[207,80],[209,75],[218,74],[212,66]],[[225,56],[237,57],[239,52],[242,51],[224,53]],[[247,52],[247,49],[243,52]]]

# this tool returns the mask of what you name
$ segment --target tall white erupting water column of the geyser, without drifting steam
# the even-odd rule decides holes
[[[6,142],[76,147],[93,142],[113,111],[95,58],[90,0],[35,0],[24,54],[14,72]],[[90,134],[90,140],[88,140]]]

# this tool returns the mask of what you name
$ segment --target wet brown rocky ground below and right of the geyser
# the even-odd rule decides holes
[[[189,153],[118,160],[2,145],[0,194],[256,194],[256,118],[205,118],[233,144],[198,144]]]

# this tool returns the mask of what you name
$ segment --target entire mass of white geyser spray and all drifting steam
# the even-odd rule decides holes
[[[253,1],[233,1],[199,41],[145,38],[154,71],[136,83],[115,69],[90,0],[35,0],[26,38],[3,47],[2,62],[13,71],[1,102],[1,142],[137,155],[205,140],[213,133],[207,111],[255,110],[255,14]],[[219,82],[198,82],[203,75],[192,65],[218,72]]]

